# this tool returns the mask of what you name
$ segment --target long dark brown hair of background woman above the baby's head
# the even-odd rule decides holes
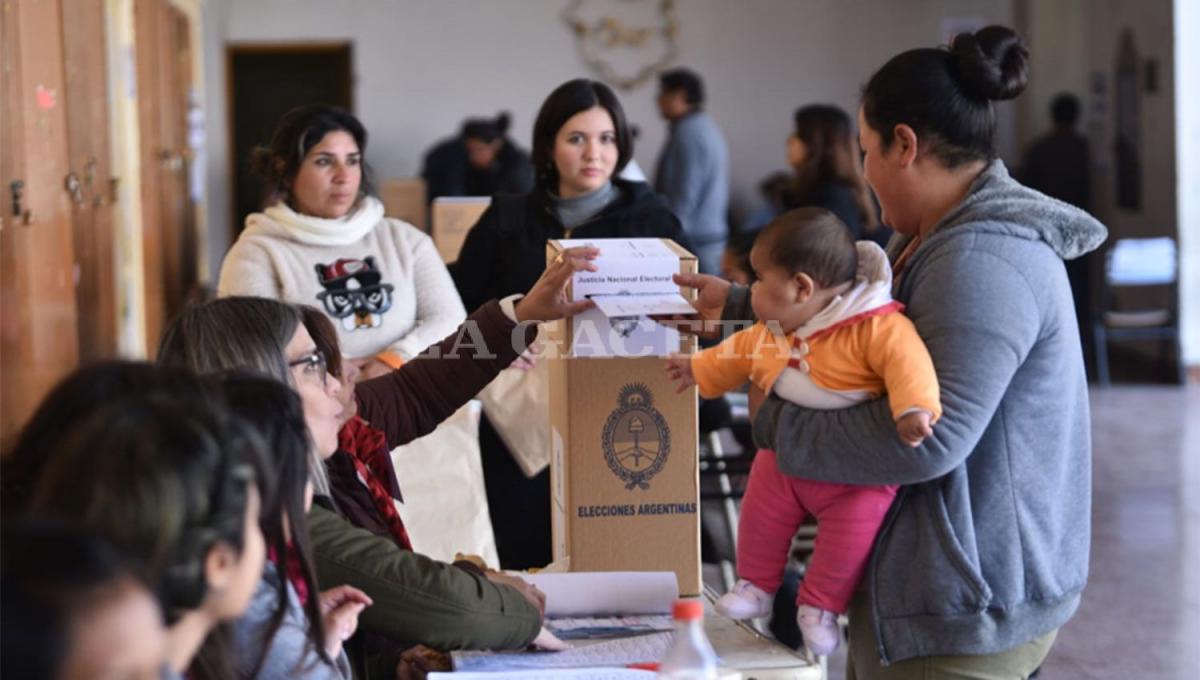
[[[858,158],[854,126],[846,112],[832,104],[812,104],[796,109],[796,138],[804,143],[805,156],[796,166],[792,199],[799,207],[820,185],[840,182],[854,192],[854,203],[863,230],[871,233],[878,225],[875,205],[863,180],[863,164]]]

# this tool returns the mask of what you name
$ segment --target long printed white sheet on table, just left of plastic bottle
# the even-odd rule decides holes
[[[576,644],[566,651],[455,651],[450,658],[456,672],[613,667],[661,661],[668,646],[671,633],[653,633]]]

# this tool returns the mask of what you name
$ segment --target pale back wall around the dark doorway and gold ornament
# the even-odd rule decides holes
[[[620,0],[588,0],[601,11]],[[650,1],[650,0],[647,0]],[[354,42],[355,110],[371,132],[380,177],[408,176],[434,140],[468,115],[512,113],[528,148],[538,107],[570,78],[592,77],[562,19],[568,0],[208,0],[205,18],[210,252],[228,246],[227,42]],[[853,112],[874,70],[904,49],[942,40],[946,17],[1012,24],[1012,0],[678,0],[678,65],[704,76],[708,109],[728,138],[736,205],[785,166],[792,112],[833,102]],[[642,128],[636,157],[653,173],[665,125],[656,83],[619,91]],[[1000,149],[1013,158],[1014,116],[1002,112]],[[224,236],[224,237],[222,237]]]

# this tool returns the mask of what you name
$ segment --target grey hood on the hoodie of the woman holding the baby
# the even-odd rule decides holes
[[[998,160],[976,177],[967,197],[942,217],[928,240],[962,228],[1042,241],[1064,260],[1094,251],[1109,234],[1087,212],[1014,180]],[[894,258],[910,240],[894,239],[888,254]]]

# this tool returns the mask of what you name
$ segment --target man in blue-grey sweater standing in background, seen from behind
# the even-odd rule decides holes
[[[659,113],[670,124],[654,188],[666,197],[691,239],[704,273],[720,271],[730,227],[730,151],[704,112],[704,84],[686,70],[659,77]]]

